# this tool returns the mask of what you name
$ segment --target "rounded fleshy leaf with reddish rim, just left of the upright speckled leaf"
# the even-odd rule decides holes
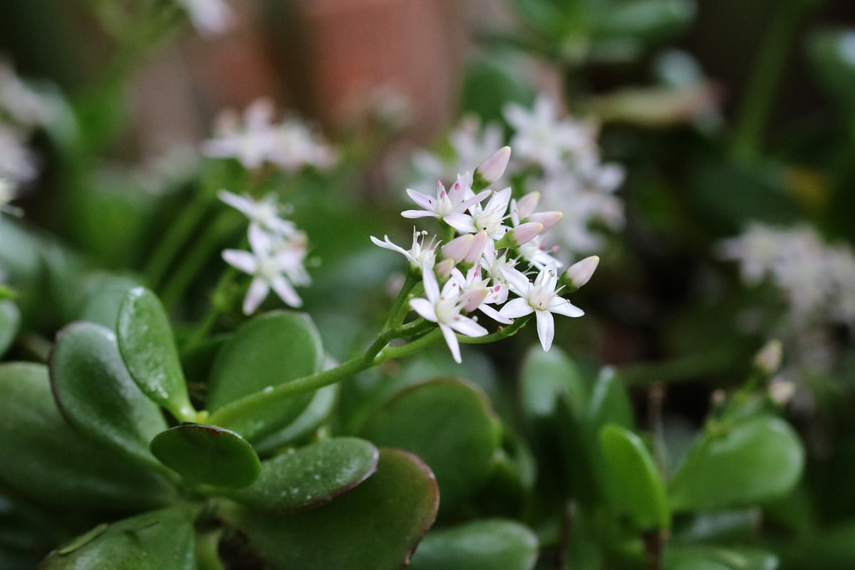
[[[62,415],[85,437],[160,467],[149,442],[166,421],[127,373],[113,332],[86,322],[62,329],[50,354],[50,383]]]

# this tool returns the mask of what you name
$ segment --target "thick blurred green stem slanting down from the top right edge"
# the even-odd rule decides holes
[[[762,150],[761,139],[775,91],[787,65],[799,22],[810,6],[807,2],[782,2],[766,28],[736,121],[733,150],[737,156],[751,159]]]

